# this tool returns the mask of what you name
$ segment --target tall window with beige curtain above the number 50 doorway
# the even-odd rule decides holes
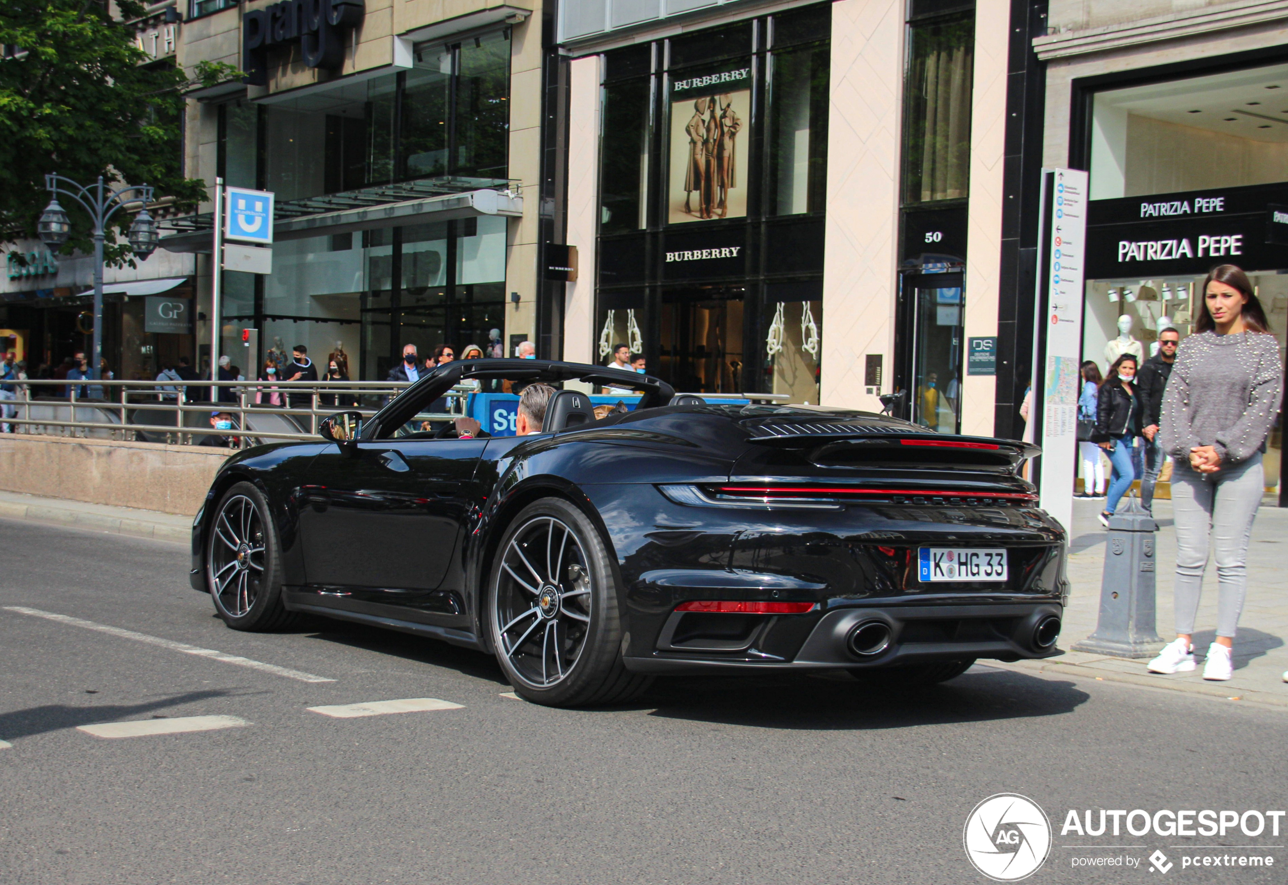
[[[913,22],[903,120],[903,201],[969,196],[974,18]]]

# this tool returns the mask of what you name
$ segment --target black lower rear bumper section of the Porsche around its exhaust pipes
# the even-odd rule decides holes
[[[792,617],[792,616],[788,616]],[[711,652],[699,649],[656,651],[647,657],[626,657],[634,672],[675,674],[733,670],[854,670],[999,658],[1018,661],[1060,654],[1050,618],[1063,618],[1064,607],[1054,602],[978,605],[854,605],[837,608],[818,618],[800,651],[790,660],[759,651]],[[773,627],[766,618],[766,633]],[[872,653],[855,651],[851,642],[860,627],[887,631],[887,643]],[[1045,635],[1039,639],[1039,627]],[[1050,640],[1043,644],[1043,640]]]

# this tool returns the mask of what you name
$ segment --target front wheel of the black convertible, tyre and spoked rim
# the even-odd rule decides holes
[[[224,492],[206,538],[206,589],[233,630],[281,630],[295,621],[282,604],[282,545],[268,501],[241,482]]]

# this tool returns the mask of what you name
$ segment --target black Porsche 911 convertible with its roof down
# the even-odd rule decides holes
[[[419,429],[453,385],[501,377],[643,395],[596,420],[560,390],[523,437]],[[192,586],[233,629],[312,612],[431,636],[556,706],[654,674],[912,684],[1057,653],[1065,535],[1019,477],[1028,443],[535,359],[448,363],[321,435],[231,457],[197,514]]]

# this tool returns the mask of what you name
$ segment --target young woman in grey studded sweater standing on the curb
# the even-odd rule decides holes
[[[1151,672],[1194,670],[1194,617],[1216,549],[1216,642],[1204,679],[1229,679],[1234,634],[1248,589],[1252,520],[1265,491],[1261,453],[1279,414],[1279,343],[1247,274],[1221,264],[1203,281],[1195,334],[1181,341],[1163,394],[1159,441],[1172,456],[1176,517],[1176,640],[1149,662]]]

